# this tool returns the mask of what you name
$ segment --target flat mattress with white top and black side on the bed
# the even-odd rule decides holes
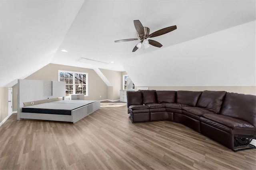
[[[63,100],[39,105],[22,107],[23,113],[43,113],[55,115],[71,115],[72,110],[78,109],[96,101]]]

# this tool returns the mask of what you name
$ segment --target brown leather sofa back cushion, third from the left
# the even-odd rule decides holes
[[[176,91],[156,91],[158,103],[175,103]]]

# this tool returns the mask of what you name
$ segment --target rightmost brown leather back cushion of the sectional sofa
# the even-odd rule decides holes
[[[256,127],[256,96],[227,93],[220,115],[241,119]]]

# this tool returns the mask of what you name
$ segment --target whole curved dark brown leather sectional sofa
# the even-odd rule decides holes
[[[236,151],[256,138],[256,96],[226,91],[127,91],[132,123],[182,123]]]

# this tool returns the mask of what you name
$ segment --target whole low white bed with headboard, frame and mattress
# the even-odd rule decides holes
[[[37,88],[33,89],[37,84]],[[33,86],[30,86],[33,84]],[[45,87],[46,86],[46,87]],[[41,89],[40,89],[41,87]],[[56,90],[54,90],[56,89]],[[31,95],[37,91],[37,95]],[[50,92],[49,92],[50,91]],[[41,95],[40,95],[41,94]],[[46,95],[45,95],[46,94]],[[24,95],[24,96],[22,96]],[[24,102],[61,97],[61,101],[42,103],[23,107]],[[45,82],[38,80],[18,80],[17,119],[40,119],[75,123],[100,108],[100,101],[64,100],[64,82]]]

